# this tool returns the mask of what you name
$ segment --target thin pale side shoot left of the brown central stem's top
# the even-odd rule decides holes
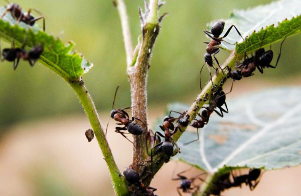
[[[125,7],[123,0],[116,0],[115,2],[116,2],[117,9],[118,9],[120,21],[121,21],[123,41],[124,41],[124,47],[125,47],[125,53],[126,53],[126,64],[127,64],[127,67],[129,67],[132,62],[132,59],[133,59],[133,47],[132,47],[132,42],[131,42],[126,7]]]

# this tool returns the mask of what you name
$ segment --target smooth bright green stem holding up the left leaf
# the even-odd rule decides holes
[[[109,144],[106,140],[106,136],[104,134],[103,128],[101,126],[94,102],[92,97],[90,96],[86,86],[84,85],[83,80],[67,80],[70,86],[75,91],[77,97],[79,98],[80,103],[82,104],[86,115],[90,121],[91,127],[94,130],[96,139],[98,141],[99,147],[102,151],[104,159],[107,163],[107,167],[110,172],[110,176],[112,179],[112,184],[115,190],[115,194],[118,196],[130,195],[127,185],[125,184],[124,178],[119,177],[118,173],[120,173],[115,160],[113,158],[113,154],[109,147]],[[117,173],[118,172],[118,173]]]

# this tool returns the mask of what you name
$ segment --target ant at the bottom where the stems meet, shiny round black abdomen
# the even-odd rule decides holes
[[[146,166],[146,165],[137,165],[137,166]],[[138,187],[138,189],[135,190],[134,195],[137,195],[137,192],[141,191],[141,193],[145,196],[158,196],[158,195],[154,194],[154,191],[156,191],[157,188],[145,186],[142,183],[142,180],[145,179],[146,177],[148,177],[148,175],[146,175],[143,179],[141,179],[141,177],[143,176],[143,174],[146,171],[146,167],[143,169],[141,175],[139,175],[139,173],[137,171],[135,171],[132,167],[133,166],[126,168],[123,171],[123,175],[118,173],[117,171],[116,172],[119,174],[119,177],[123,176],[130,184],[134,184],[135,186]]]

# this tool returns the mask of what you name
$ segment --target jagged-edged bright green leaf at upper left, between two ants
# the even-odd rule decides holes
[[[0,15],[3,14],[4,10],[5,7],[0,8]],[[74,46],[73,42],[65,45],[59,38],[48,35],[37,24],[34,26],[29,26],[23,22],[17,24],[10,12],[0,20],[0,36],[8,43],[12,43],[14,40],[15,45],[21,47],[27,31],[26,49],[29,50],[37,44],[43,44],[44,52],[39,62],[65,79],[76,79],[88,72],[93,66],[80,53],[71,50]]]

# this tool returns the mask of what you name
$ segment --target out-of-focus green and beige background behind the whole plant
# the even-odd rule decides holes
[[[208,39],[202,32],[211,20],[227,18],[235,9],[246,9],[271,0],[167,0],[148,76],[149,124],[163,115],[166,104],[191,103],[199,93],[199,70]],[[130,105],[125,74],[125,52],[119,15],[112,0],[18,0],[24,10],[35,7],[46,17],[46,31],[67,42],[94,63],[83,79],[94,98],[100,118],[109,118],[115,87],[121,84],[116,107]],[[133,45],[140,34],[138,6],[143,0],[125,0]],[[3,5],[5,5],[3,1]],[[39,22],[38,22],[39,23]],[[239,27],[238,27],[239,28]],[[235,82],[227,98],[258,89],[301,85],[301,36],[283,44],[276,69]],[[8,46],[1,43],[2,47]],[[279,50],[279,43],[273,45]],[[276,53],[276,52],[275,52]],[[228,55],[221,51],[223,62]],[[275,61],[273,61],[273,64]],[[105,162],[96,140],[86,141],[90,128],[71,88],[59,76],[37,63],[1,63],[0,77],[0,195],[113,195]],[[204,69],[205,70],[205,69]],[[208,79],[203,71],[203,83]],[[272,97],[271,97],[272,98]],[[231,109],[231,108],[230,108]],[[121,170],[131,161],[131,145],[120,135],[108,134]],[[188,168],[179,164],[177,171]],[[164,167],[153,182],[159,195],[177,195],[171,182],[175,162]],[[194,171],[198,172],[198,171]],[[251,192],[234,188],[223,195],[300,195],[295,183],[301,168],[266,172]]]

